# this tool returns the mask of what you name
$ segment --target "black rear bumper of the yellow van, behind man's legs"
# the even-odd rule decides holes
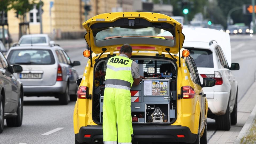
[[[91,137],[85,138],[85,134],[90,134]],[[134,125],[133,126],[134,142],[186,142],[193,143],[197,138],[197,134],[191,133],[190,129],[185,126],[175,125]],[[183,138],[178,138],[177,135],[185,135]],[[83,126],[79,133],[75,134],[75,139],[83,143],[103,143],[102,125]]]

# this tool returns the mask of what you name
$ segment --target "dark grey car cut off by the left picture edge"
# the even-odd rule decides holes
[[[10,66],[0,52],[0,133],[3,131],[4,119],[9,127],[22,125],[23,87],[13,75],[20,72],[22,67]]]

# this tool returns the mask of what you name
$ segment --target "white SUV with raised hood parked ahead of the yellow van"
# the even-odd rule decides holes
[[[216,79],[214,87],[204,87],[209,110],[207,117],[215,119],[216,128],[229,130],[237,123],[238,84],[232,70],[239,70],[238,63],[231,63],[229,34],[206,28],[183,28],[186,35],[183,48],[190,51],[200,79]]]

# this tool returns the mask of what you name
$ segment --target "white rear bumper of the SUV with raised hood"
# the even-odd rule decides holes
[[[229,92],[214,91],[214,98],[207,99],[208,107],[214,115],[224,115],[226,113],[229,95]]]

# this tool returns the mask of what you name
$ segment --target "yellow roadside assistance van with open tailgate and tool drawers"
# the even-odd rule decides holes
[[[107,61],[125,43],[133,47],[131,59],[146,77],[130,88],[133,143],[207,143],[208,102],[202,87],[214,86],[215,80],[204,78],[201,84],[193,58],[182,48],[181,23],[159,13],[118,12],[96,15],[83,27],[91,48],[83,53],[89,60],[77,81],[75,143],[103,143]]]

